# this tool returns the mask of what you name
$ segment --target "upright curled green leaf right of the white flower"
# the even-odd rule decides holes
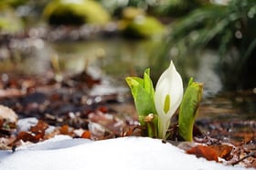
[[[203,84],[191,78],[179,109],[178,132],[186,141],[193,140],[193,125],[203,93]]]

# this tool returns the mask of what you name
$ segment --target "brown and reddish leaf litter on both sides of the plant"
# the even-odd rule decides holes
[[[138,124],[129,96],[124,101],[120,101],[120,95],[123,94],[118,91],[92,96],[90,91],[101,85],[101,79],[94,80],[86,72],[60,82],[53,77],[50,72],[45,77],[33,78],[12,73],[2,75],[0,149],[15,152],[20,145],[42,142],[58,134],[95,141],[144,136],[144,129]],[[31,118],[35,119],[27,129],[20,127],[29,124]],[[240,133],[244,139],[241,143],[227,143],[227,140],[221,140],[223,135],[227,136],[227,132],[218,129],[223,123],[214,122],[210,125],[215,129],[209,129],[208,133],[199,132],[195,126],[197,133],[194,132],[194,143],[170,139],[165,142],[175,143],[187,154],[196,154],[197,157],[224,162],[226,165],[256,168],[255,129],[252,133]]]

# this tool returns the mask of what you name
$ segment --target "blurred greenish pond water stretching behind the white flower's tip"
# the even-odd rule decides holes
[[[123,40],[121,38],[95,39],[90,42],[51,44],[59,55],[62,71],[77,73],[84,69],[100,69],[103,74],[123,80],[126,76],[141,76],[150,67],[155,80],[168,67],[170,58],[158,55],[164,43],[152,40]],[[185,82],[190,77],[205,83],[205,94],[215,94],[222,88],[215,66],[217,54],[207,51],[204,56],[172,58]],[[123,81],[124,83],[124,81]]]

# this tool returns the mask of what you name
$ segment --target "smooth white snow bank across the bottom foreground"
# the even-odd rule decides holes
[[[48,141],[0,151],[1,170],[237,170],[242,167],[209,162],[185,154],[170,143],[145,137],[124,137],[92,142],[56,136]]]

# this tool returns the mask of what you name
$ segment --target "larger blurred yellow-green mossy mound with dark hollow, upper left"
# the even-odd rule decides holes
[[[105,24],[110,15],[97,2],[91,0],[54,0],[43,14],[50,25]]]

